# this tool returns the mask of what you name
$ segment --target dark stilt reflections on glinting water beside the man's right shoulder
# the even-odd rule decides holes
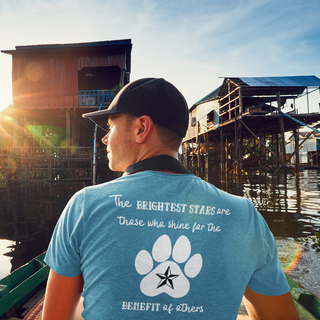
[[[243,177],[243,193],[279,237],[306,237],[320,231],[320,171],[299,176]]]

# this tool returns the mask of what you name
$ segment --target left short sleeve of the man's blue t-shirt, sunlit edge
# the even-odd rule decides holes
[[[64,277],[75,277],[81,273],[80,239],[83,232],[84,191],[76,193],[63,210],[49,248],[45,262]]]

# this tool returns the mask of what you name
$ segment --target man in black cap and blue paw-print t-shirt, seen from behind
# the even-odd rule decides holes
[[[125,86],[102,128],[109,166],[124,175],[72,197],[56,226],[44,320],[298,319],[269,228],[252,203],[177,160],[188,127],[181,93],[163,79]]]

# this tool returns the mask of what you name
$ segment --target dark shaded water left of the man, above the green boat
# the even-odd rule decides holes
[[[47,249],[56,221],[83,183],[0,182],[0,239],[10,240],[1,255],[10,273]],[[6,274],[0,274],[0,278]]]

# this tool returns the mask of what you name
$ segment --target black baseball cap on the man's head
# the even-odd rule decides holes
[[[164,79],[144,78],[124,86],[108,109],[82,115],[108,131],[110,114],[128,113],[136,117],[149,116],[160,126],[184,137],[188,129],[189,110],[181,92]]]

